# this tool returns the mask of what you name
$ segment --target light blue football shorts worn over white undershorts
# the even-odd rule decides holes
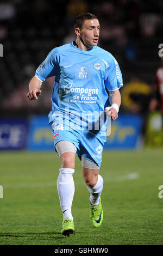
[[[82,156],[95,162],[99,167],[102,162],[103,143],[99,141],[97,131],[89,130],[65,130],[53,131],[54,146],[60,141],[70,141],[77,148],[77,155],[82,160]],[[57,150],[55,150],[57,151]]]

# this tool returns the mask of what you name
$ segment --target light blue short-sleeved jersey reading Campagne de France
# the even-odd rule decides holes
[[[99,135],[106,130],[106,89],[112,92],[123,86],[120,67],[111,53],[98,46],[83,51],[71,42],[54,48],[35,76],[42,82],[55,76],[49,113],[54,131],[80,134],[80,130],[90,130],[102,144],[105,142],[105,136]]]

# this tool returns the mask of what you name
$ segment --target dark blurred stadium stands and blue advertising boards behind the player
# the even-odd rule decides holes
[[[47,114],[54,77],[43,83],[38,101],[27,100],[28,84],[52,48],[74,39],[74,17],[83,12],[99,18],[99,46],[115,56],[124,81],[120,118],[105,148],[163,145],[159,107],[149,112],[162,65],[161,0],[8,0],[0,3],[0,149],[53,150]]]

